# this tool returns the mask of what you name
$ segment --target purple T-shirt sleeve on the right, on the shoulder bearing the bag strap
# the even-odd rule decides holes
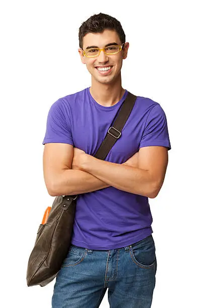
[[[171,149],[166,115],[159,104],[151,109],[140,142],[140,147],[153,145]]]

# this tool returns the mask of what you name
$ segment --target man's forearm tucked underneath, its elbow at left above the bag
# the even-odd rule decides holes
[[[57,176],[53,196],[76,195],[109,187],[102,180],[82,170],[65,169]]]

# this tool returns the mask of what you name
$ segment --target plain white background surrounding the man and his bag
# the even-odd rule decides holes
[[[51,306],[54,281],[26,285],[38,224],[54,199],[44,184],[42,141],[50,106],[91,85],[78,30],[100,12],[121,22],[130,44],[122,87],[160,103],[168,121],[168,169],[150,199],[158,262],[152,307],[199,307],[197,1],[7,0],[0,12],[1,307]],[[107,293],[101,307],[109,307]]]

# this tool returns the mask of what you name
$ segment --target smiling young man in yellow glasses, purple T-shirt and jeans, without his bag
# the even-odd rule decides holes
[[[157,262],[148,197],[158,195],[166,173],[166,116],[137,97],[105,161],[94,158],[128,93],[121,66],[129,44],[121,24],[101,13],[82,24],[79,44],[92,85],[51,106],[43,140],[48,193],[79,194],[52,307],[99,307],[107,288],[112,308],[151,307]]]

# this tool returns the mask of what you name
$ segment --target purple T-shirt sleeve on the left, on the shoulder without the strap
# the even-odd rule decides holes
[[[69,112],[61,100],[57,100],[48,112],[46,133],[42,144],[50,142],[74,145]]]

